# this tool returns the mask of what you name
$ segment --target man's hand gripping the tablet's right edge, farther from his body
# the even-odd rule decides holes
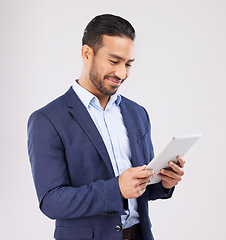
[[[170,170],[161,169],[161,173],[158,174],[158,177],[162,179],[162,186],[164,188],[170,189],[176,186],[184,175],[183,167],[185,162],[182,160],[181,156],[177,156],[178,163],[169,161]]]

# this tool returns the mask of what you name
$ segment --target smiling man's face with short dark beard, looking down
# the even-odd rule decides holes
[[[129,76],[134,61],[134,43],[128,37],[103,36],[103,47],[93,57],[89,79],[95,92],[113,95]]]

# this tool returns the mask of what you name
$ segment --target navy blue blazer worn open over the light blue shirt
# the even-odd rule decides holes
[[[153,158],[147,112],[122,97],[134,167]],[[121,240],[125,205],[118,177],[87,109],[70,88],[28,121],[28,152],[41,211],[56,219],[56,239]],[[138,198],[143,239],[153,239],[148,200],[169,198],[161,182]],[[117,226],[117,227],[116,227]]]

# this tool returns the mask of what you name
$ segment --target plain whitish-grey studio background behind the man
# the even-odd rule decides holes
[[[226,1],[1,0],[0,239],[53,239],[27,156],[29,115],[81,72],[81,38],[96,15],[136,29],[136,61],[121,93],[150,114],[155,152],[172,135],[203,137],[170,200],[150,203],[156,240],[226,239]]]

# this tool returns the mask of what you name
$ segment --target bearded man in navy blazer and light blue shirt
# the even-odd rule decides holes
[[[153,239],[148,200],[170,198],[183,160],[155,175],[145,109],[120,96],[134,62],[135,31],[125,19],[95,17],[83,36],[83,70],[63,96],[34,112],[28,151],[40,209],[60,239]]]

